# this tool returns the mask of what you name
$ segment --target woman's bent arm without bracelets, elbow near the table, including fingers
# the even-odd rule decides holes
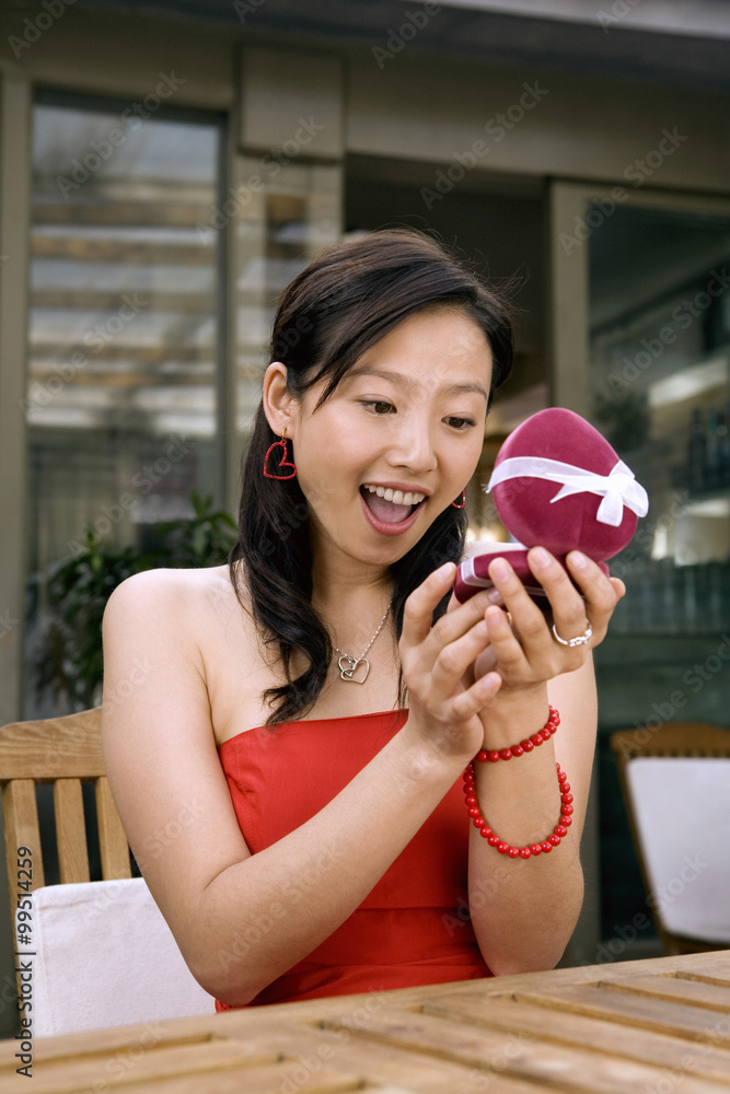
[[[425,636],[453,581],[454,568],[443,569],[406,609],[407,627]],[[201,598],[173,570],[130,578],[109,598],[104,758],[132,851],[190,970],[243,1004],[332,934],[412,839],[478,747],[476,712],[490,685],[459,696],[471,737],[453,732],[448,702],[432,722],[409,717],[328,805],[252,856],[216,750],[194,638]],[[449,693],[487,641],[486,602],[470,604],[449,625]]]

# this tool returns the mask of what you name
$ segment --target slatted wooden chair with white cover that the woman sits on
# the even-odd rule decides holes
[[[83,782],[95,788],[102,881],[90,880]],[[45,885],[42,783],[53,784],[60,885]],[[35,1036],[213,1013],[212,997],[185,965],[146,882],[131,876],[104,772],[101,708],[2,726],[0,785],[13,921],[19,897],[35,894]],[[19,858],[19,848],[31,854]],[[19,936],[24,912],[18,912]]]

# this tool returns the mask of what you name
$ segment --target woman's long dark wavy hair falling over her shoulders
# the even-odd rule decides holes
[[[494,392],[512,364],[511,305],[441,244],[409,229],[346,241],[310,263],[279,299],[269,360],[286,364],[287,389],[298,400],[314,384],[326,381],[316,410],[367,349],[409,315],[444,305],[459,307],[484,331],[494,359]],[[296,478],[274,481],[262,475],[265,454],[277,439],[262,403],[243,465],[239,537],[228,560],[240,603],[251,608],[266,643],[278,647],[285,670],[286,684],[264,693],[271,708],[267,725],[292,721],[311,710],[334,652],[329,633],[312,606],[304,494]],[[396,637],[408,595],[441,563],[457,562],[465,538],[465,511],[450,505],[391,567]],[[448,597],[437,616],[447,603]],[[308,663],[297,677],[291,672],[296,652]],[[403,705],[402,676],[398,690]]]

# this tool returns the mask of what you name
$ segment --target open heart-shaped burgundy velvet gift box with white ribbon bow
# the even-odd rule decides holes
[[[461,602],[491,585],[489,563],[507,558],[536,603],[549,608],[528,566],[528,548],[546,547],[565,566],[581,550],[605,573],[646,516],[647,492],[604,437],[580,415],[551,407],[532,415],[502,444],[487,491],[517,544],[480,544],[456,571]]]

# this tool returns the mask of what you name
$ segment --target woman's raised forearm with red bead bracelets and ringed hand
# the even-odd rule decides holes
[[[588,615],[593,644],[601,641],[623,594],[622,583],[605,578],[590,560],[580,568],[575,566],[576,555],[569,556],[571,572],[586,594],[583,601],[555,560],[537,571],[534,555],[531,559],[548,593],[558,633],[582,633]],[[572,824],[559,847],[547,854],[509,859],[472,828],[472,923],[485,961],[499,975],[553,968],[580,913],[580,836],[598,711],[588,648],[567,649],[555,641],[543,613],[530,601],[510,567],[505,577],[495,574],[495,580],[512,615],[513,629],[499,608],[487,612],[501,689],[483,712],[485,747],[509,747],[535,733],[545,724],[548,698],[560,713],[560,725],[548,742],[531,753],[494,764],[475,764],[482,813],[503,841],[530,846],[545,841],[560,816],[556,761],[567,773],[573,795]]]

